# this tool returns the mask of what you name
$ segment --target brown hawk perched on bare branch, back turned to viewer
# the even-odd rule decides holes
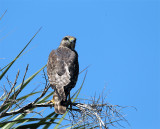
[[[67,97],[75,87],[78,74],[78,54],[75,51],[76,38],[65,36],[60,46],[52,50],[47,63],[47,75],[51,87],[54,89],[54,109],[57,114],[64,114],[67,109]]]

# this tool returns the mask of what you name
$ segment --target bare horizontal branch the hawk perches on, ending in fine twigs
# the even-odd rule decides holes
[[[122,114],[120,114],[121,109],[126,108],[126,107],[121,107],[119,105],[110,105],[108,103],[104,104],[83,104],[83,103],[67,103],[68,105],[72,105],[72,108],[68,108],[68,110],[71,111],[72,116],[74,119],[77,119],[78,122],[76,123],[82,123],[86,121],[86,119],[92,119],[94,124],[99,123],[99,128],[108,128],[108,124],[114,124],[117,123],[119,124],[119,121],[126,121],[127,120],[124,118]],[[38,107],[53,107],[54,104],[51,103],[41,103],[41,104],[35,104],[34,102],[29,103],[25,105],[24,107],[17,109],[15,111],[10,111],[2,114],[0,118],[5,117],[5,116],[10,116],[10,115],[15,115],[19,113],[30,113],[30,110],[33,108],[38,108]],[[75,108],[74,108],[75,107]],[[119,109],[118,109],[119,108]],[[76,113],[77,116],[75,115]],[[108,119],[105,121],[105,119]],[[127,122],[128,123],[128,122]],[[129,123],[128,123],[129,124]],[[121,125],[120,125],[121,126]]]

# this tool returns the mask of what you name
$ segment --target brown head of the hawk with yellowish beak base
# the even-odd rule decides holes
[[[76,44],[76,38],[73,36],[65,36],[60,44],[60,47],[68,47],[74,50]]]

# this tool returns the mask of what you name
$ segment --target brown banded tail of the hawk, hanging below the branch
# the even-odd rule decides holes
[[[59,100],[58,95],[53,95],[54,99],[54,110],[57,114],[64,114],[66,112],[66,106],[61,104],[61,101]]]

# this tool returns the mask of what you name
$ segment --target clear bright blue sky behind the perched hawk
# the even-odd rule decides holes
[[[7,73],[11,80],[18,69],[23,75],[27,64],[27,76],[35,73],[64,36],[75,36],[80,70],[91,65],[80,97],[100,94],[106,87],[110,103],[138,109],[124,111],[133,129],[159,129],[159,8],[156,0],[0,0],[0,15],[8,10],[0,21],[0,67],[41,26],[31,50]],[[43,89],[40,82],[41,74],[31,87]]]

